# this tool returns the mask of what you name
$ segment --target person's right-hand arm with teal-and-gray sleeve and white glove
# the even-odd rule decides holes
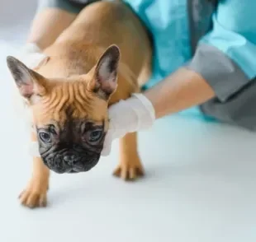
[[[246,24],[246,19],[254,16],[249,2],[233,0],[220,4],[218,15],[213,16],[213,29],[203,36],[190,63],[144,94],[111,106],[111,128],[103,155],[110,151],[111,137],[149,128],[155,118],[200,105],[213,97],[225,102],[256,76],[256,26],[253,21]],[[147,105],[141,105],[140,98],[146,98]]]

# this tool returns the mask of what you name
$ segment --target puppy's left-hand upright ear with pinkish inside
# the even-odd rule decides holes
[[[33,95],[45,94],[46,80],[39,73],[26,67],[25,64],[12,56],[7,57],[7,66],[23,97],[30,99]]]

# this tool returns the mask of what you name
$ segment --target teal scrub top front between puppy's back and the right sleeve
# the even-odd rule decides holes
[[[147,88],[191,58],[197,41],[211,27],[213,4],[206,0],[123,0],[154,40],[153,75]]]

